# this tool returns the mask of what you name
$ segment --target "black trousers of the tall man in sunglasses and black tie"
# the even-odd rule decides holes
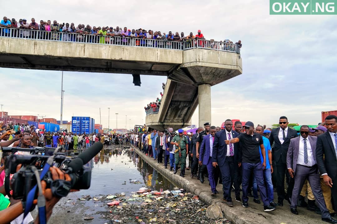
[[[294,189],[294,178],[289,177],[289,184],[287,189],[287,194],[284,191],[284,179],[285,174],[288,172],[287,164],[279,161],[276,163],[277,169],[277,196],[279,201],[283,201],[285,198],[292,197],[293,189]]]

